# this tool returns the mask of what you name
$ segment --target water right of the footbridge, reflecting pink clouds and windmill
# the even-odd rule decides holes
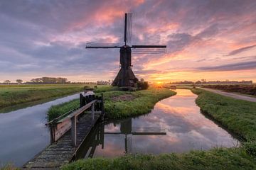
[[[98,125],[83,143],[78,158],[238,146],[238,140],[200,113],[196,97],[189,90],[178,89],[176,96],[156,103],[150,114]]]

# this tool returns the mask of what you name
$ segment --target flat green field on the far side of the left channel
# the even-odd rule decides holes
[[[84,86],[85,84],[0,85],[0,109],[21,103],[75,94],[83,91]],[[112,88],[112,86],[98,87],[96,91],[107,91]]]

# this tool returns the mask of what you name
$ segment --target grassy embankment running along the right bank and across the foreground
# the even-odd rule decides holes
[[[68,169],[256,169],[256,103],[240,101],[201,89],[196,103],[202,111],[245,138],[238,148],[215,148],[183,154],[128,155],[114,159],[82,159]]]

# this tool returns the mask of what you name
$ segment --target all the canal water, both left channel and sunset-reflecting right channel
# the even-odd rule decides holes
[[[195,94],[187,89],[176,91],[176,96],[156,103],[149,114],[99,123],[82,143],[78,158],[239,146],[237,139],[201,113]],[[48,108],[78,97],[0,114],[0,166],[9,162],[22,166],[49,145]]]

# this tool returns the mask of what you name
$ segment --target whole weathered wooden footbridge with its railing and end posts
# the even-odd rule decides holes
[[[86,102],[83,101],[83,103]],[[90,113],[85,112],[88,108]],[[75,157],[95,123],[102,118],[103,110],[103,99],[95,99],[73,113],[60,116],[48,123],[51,131],[51,145],[24,164],[22,169],[50,170],[59,169],[63,164],[68,164]]]

